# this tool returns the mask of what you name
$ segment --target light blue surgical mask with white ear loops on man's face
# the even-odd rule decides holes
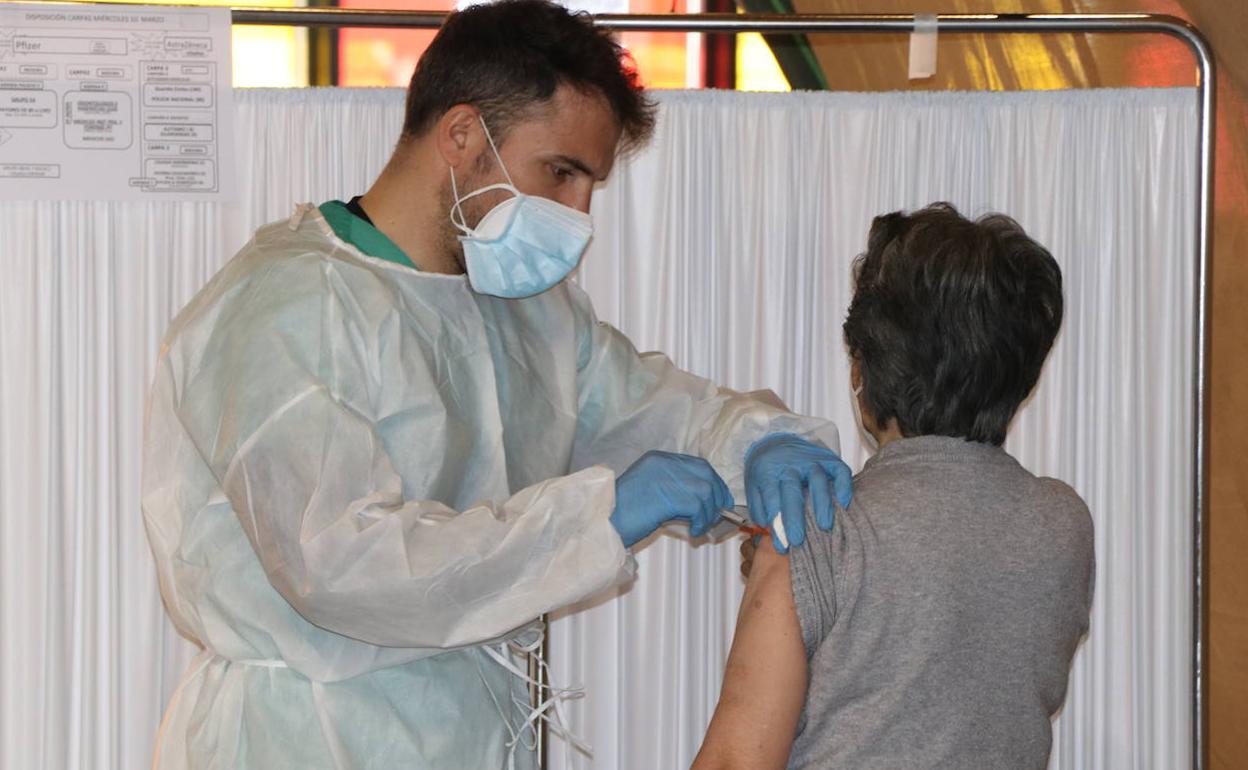
[[[480,125],[485,129],[484,120]],[[559,283],[577,267],[594,232],[593,220],[569,206],[517,190],[489,129],[485,139],[507,182],[487,185],[461,197],[452,168],[451,192],[456,202],[451,222],[463,233],[459,242],[473,291],[508,300],[532,297]],[[468,227],[464,201],[492,190],[504,190],[512,197],[490,208],[475,227]]]

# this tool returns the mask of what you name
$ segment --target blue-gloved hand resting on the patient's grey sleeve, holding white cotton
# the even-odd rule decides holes
[[[776,550],[806,540],[806,492],[820,529],[831,529],[836,518],[830,489],[845,508],[850,504],[850,467],[835,452],[795,433],[773,433],[754,442],[745,453],[745,495],[750,518],[771,530]],[[775,519],[780,518],[776,527]]]

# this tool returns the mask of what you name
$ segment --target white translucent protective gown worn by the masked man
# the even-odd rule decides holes
[[[144,517],[205,650],[155,766],[505,768],[528,693],[487,650],[633,574],[615,473],[699,454],[744,500],[773,431],[837,448],[639,356],[575,286],[475,295],[310,207],[261,228],[173,321],[149,402]]]

